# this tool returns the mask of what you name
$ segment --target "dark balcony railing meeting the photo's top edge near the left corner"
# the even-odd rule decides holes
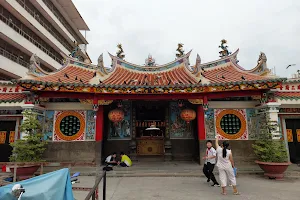
[[[54,27],[51,27],[51,25],[49,26],[48,24],[46,24],[44,22],[44,20],[42,19],[43,16],[41,13],[39,13],[36,10],[32,10],[30,9],[22,0],[17,0],[17,2],[34,18],[36,19],[48,32],[51,33],[51,35],[53,35],[53,37],[55,37],[68,51],[72,51],[73,47],[71,45],[68,44],[68,42],[63,38],[62,35],[56,33],[54,30]]]

